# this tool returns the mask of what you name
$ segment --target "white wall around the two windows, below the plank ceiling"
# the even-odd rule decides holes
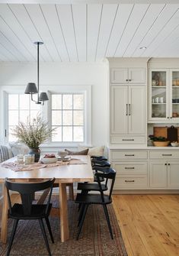
[[[0,64],[0,138],[3,134],[4,86],[25,86],[37,83],[37,63]],[[107,144],[108,63],[40,63],[40,89],[50,86],[91,85],[91,144]],[[44,86],[44,87],[43,87]],[[48,86],[48,88],[47,88]],[[11,87],[10,87],[11,88]]]

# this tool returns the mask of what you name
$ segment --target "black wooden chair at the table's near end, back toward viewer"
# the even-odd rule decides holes
[[[46,180],[44,182],[38,182],[38,183],[15,183],[8,180],[8,178],[5,179],[5,186],[7,188],[7,193],[8,193],[8,206],[9,206],[8,218],[14,219],[11,238],[8,244],[7,256],[10,254],[11,245],[13,243],[14,235],[18,226],[18,221],[20,219],[28,219],[28,220],[38,219],[39,220],[40,228],[43,233],[43,238],[46,244],[46,249],[49,255],[51,256],[50,246],[47,240],[43,219],[45,219],[46,221],[46,225],[50,233],[50,238],[54,243],[53,233],[52,233],[50,221],[49,221],[50,210],[52,208],[52,203],[50,203],[50,199],[53,191],[54,181],[55,181],[55,178],[53,178],[52,180]],[[46,198],[46,203],[35,204],[33,202],[34,193],[37,191],[48,190],[48,189],[49,189],[49,195]],[[21,203],[14,203],[14,205],[12,206],[10,191],[15,191],[20,193]]]

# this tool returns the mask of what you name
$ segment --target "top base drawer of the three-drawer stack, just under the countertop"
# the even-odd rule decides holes
[[[110,151],[111,160],[147,159],[147,151]]]

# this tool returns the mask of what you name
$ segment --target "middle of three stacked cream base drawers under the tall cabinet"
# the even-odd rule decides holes
[[[118,174],[146,174],[147,173],[147,162],[113,162],[113,169]]]

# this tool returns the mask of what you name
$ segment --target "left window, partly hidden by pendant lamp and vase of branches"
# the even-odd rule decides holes
[[[27,94],[8,94],[8,141],[15,141],[16,138],[11,134],[12,129],[18,122],[27,122],[37,116],[40,112],[40,105],[30,100]]]

